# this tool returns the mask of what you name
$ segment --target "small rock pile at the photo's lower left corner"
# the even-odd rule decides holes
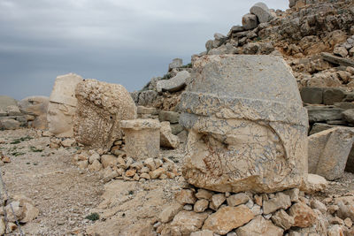
[[[0,208],[0,235],[15,231],[18,227],[16,220],[20,224],[26,224],[38,217],[39,210],[35,207],[35,202],[24,195],[14,195],[12,199],[3,195],[3,200]]]

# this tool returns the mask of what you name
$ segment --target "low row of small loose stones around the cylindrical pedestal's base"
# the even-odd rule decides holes
[[[126,154],[100,155],[94,150],[78,151],[73,163],[82,170],[101,171],[105,182],[111,179],[143,181],[142,179],[174,179],[181,176],[179,167],[167,157],[135,160]]]

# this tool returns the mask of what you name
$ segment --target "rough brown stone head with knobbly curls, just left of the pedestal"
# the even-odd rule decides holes
[[[133,99],[119,84],[84,80],[76,88],[76,97],[74,136],[89,148],[109,150],[122,137],[119,121],[136,118]]]

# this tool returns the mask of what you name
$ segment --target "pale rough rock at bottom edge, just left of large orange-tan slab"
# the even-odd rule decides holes
[[[171,225],[176,227],[177,232],[181,235],[189,235],[191,232],[196,232],[202,228],[206,217],[208,217],[207,213],[182,210],[173,218]]]

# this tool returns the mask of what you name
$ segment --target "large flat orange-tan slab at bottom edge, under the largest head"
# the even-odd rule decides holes
[[[254,218],[252,211],[245,205],[225,207],[210,215],[204,223],[203,230],[211,230],[218,234],[227,234]]]

